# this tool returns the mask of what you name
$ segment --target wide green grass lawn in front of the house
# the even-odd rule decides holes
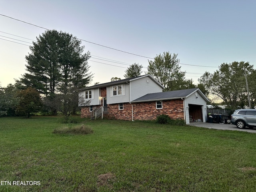
[[[76,118],[0,118],[0,191],[256,191],[256,134]]]

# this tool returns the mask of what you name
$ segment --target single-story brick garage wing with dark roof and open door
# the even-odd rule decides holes
[[[162,103],[162,108],[155,110],[154,105],[156,104],[154,104],[154,102],[158,101]],[[186,124],[190,124],[191,121],[206,122],[206,102],[208,101],[208,98],[206,98],[199,88],[192,88],[146,94],[145,96],[133,100],[131,103],[134,104],[133,115],[135,119],[138,115],[138,112],[135,111],[137,110],[135,109],[135,104],[139,103],[140,106],[138,108],[143,110],[144,114],[147,114],[147,116],[144,116],[145,120],[156,118],[156,116],[160,114],[167,114],[171,118],[182,118],[185,120]],[[151,106],[148,106],[147,103],[149,102],[153,102]]]

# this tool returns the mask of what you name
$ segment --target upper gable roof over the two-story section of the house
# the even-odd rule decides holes
[[[143,77],[149,77],[151,78],[154,82],[156,82],[156,84],[158,84],[160,87],[164,88],[164,86],[162,86],[157,80],[155,80],[151,75],[147,74],[147,75],[142,75],[142,76],[138,76],[138,77],[131,77],[131,78],[127,78],[127,79],[122,79],[122,80],[118,80],[118,81],[112,81],[112,82],[107,82],[107,83],[102,83],[102,84],[96,84],[94,86],[90,86],[90,87],[86,87],[86,88],[82,88],[80,89],[80,91],[83,90],[89,90],[89,89],[94,89],[94,88],[103,88],[103,87],[107,87],[107,86],[113,86],[113,85],[117,85],[117,84],[122,84],[122,83],[126,83],[126,82],[131,82]]]

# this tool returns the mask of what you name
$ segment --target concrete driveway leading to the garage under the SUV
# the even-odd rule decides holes
[[[190,123],[191,126],[196,127],[205,127],[209,129],[219,129],[219,130],[232,130],[232,131],[245,131],[250,133],[256,133],[256,128],[245,128],[245,129],[238,129],[233,124],[219,124],[219,123],[202,123],[202,122],[193,122]]]

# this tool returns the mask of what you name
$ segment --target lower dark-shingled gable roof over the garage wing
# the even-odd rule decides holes
[[[146,94],[138,99],[133,100],[132,103],[187,98],[196,91],[198,91],[198,93],[200,94],[200,96],[202,96],[202,98],[204,98],[204,100],[209,101],[199,88],[192,88]]]

